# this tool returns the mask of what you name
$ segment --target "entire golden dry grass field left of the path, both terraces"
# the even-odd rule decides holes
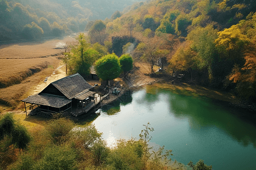
[[[22,42],[0,46],[0,113],[22,108],[20,100],[28,91],[43,82],[60,66],[60,43],[74,41],[71,37],[63,40],[44,42]]]

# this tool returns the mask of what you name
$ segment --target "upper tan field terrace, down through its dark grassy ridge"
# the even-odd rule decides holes
[[[61,52],[56,45],[73,40],[69,37],[64,40],[0,45],[0,88],[19,84],[28,76],[52,65]]]

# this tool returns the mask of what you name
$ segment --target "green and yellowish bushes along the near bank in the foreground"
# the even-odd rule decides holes
[[[94,125],[79,128],[67,118],[53,118],[27,131],[13,114],[6,113],[0,126],[4,130],[0,134],[1,169],[184,169],[183,164],[170,162],[171,150],[151,151],[148,141],[154,129],[149,123],[143,125],[138,140],[122,139],[112,148]],[[18,131],[19,135],[11,135]],[[189,166],[212,169],[201,160]]]

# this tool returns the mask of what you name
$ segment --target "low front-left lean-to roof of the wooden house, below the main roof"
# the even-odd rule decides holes
[[[64,107],[64,105],[72,102],[72,100],[67,99],[66,97],[49,94],[37,94],[28,96],[22,101],[31,104],[47,105],[54,108],[61,108]]]

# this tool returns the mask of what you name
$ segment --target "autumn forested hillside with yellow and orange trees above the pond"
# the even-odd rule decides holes
[[[185,73],[189,82],[256,101],[255,11],[253,0],[149,1],[105,20],[105,40],[118,56],[132,42],[134,59],[152,71],[154,61],[166,57],[168,69]]]

